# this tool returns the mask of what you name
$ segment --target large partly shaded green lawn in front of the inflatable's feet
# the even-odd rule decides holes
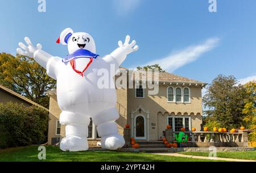
[[[11,149],[0,150],[0,161],[39,161],[38,146],[16,147]],[[57,146],[46,146],[46,161],[48,162],[138,162],[138,161],[155,161],[155,162],[202,162],[212,161],[207,159],[193,159],[183,157],[171,157],[155,155],[150,153],[123,153],[118,151],[83,151],[83,152],[63,152]]]

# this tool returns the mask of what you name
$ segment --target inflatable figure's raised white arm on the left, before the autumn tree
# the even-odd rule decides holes
[[[17,49],[18,54],[22,54],[28,57],[34,57],[35,61],[44,69],[47,70],[49,77],[56,79],[57,76],[57,63],[61,61],[59,57],[53,57],[51,54],[44,52],[41,44],[37,44],[36,47],[31,43],[28,37],[24,39],[27,43],[27,46],[23,43],[19,43],[19,47],[24,49]]]

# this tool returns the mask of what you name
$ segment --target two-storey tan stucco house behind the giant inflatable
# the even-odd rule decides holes
[[[159,92],[148,95],[148,88],[118,88],[117,120],[119,133],[123,134],[126,124],[131,126],[131,136],[136,140],[157,141],[163,137],[166,125],[177,131],[184,127],[187,131],[195,127],[201,129],[201,90],[207,83],[180,77],[171,73],[159,73]],[[131,81],[135,84],[135,80]],[[57,105],[56,91],[49,91],[48,144],[54,145],[65,136],[65,128],[59,123],[61,113]],[[89,125],[89,144],[100,141],[96,126]]]

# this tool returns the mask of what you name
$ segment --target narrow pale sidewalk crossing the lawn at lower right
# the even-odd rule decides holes
[[[184,155],[184,154],[178,154],[178,153],[152,153],[152,154],[158,154],[158,155],[170,155],[175,157],[188,157],[188,158],[195,158],[195,159],[210,159],[209,157],[204,156],[196,156],[196,155]],[[231,159],[231,158],[214,158],[214,160],[218,161],[229,161],[229,162],[256,162],[253,160],[245,160],[245,159]]]

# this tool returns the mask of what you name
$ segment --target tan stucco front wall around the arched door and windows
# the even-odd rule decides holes
[[[201,115],[203,114],[201,87],[189,87],[191,103],[167,103],[167,87],[159,86],[158,95],[148,95],[148,90],[145,89],[145,97],[143,99],[135,98],[135,89],[128,90],[128,122],[131,124],[131,112],[135,111],[139,105],[143,109],[148,110],[150,112],[149,140],[158,140],[162,136],[162,131],[168,124],[167,116],[191,116],[191,127],[200,130],[200,124],[202,123]],[[151,123],[156,125],[152,126]]]

